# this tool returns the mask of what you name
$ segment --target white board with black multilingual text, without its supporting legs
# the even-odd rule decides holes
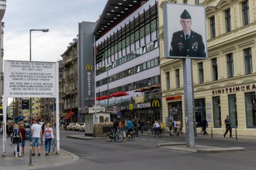
[[[5,97],[56,97],[56,63],[4,61]]]

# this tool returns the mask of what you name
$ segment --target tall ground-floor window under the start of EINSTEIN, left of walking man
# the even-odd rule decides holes
[[[214,128],[221,128],[220,96],[212,97],[212,108],[214,111]]]

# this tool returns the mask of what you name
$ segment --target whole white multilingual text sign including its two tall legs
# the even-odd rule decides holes
[[[6,156],[7,98],[56,98],[56,141],[59,154],[59,64],[26,60],[4,60],[3,156]],[[30,100],[31,101],[31,100]],[[30,108],[32,104],[30,102]],[[31,118],[32,113],[30,113]]]

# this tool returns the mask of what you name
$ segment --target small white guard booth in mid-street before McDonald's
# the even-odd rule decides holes
[[[88,114],[85,115],[85,122],[86,122],[86,136],[95,136],[94,135],[94,127],[98,126],[98,124],[106,124],[109,122],[110,114],[105,112],[105,108],[96,107],[89,108]]]

